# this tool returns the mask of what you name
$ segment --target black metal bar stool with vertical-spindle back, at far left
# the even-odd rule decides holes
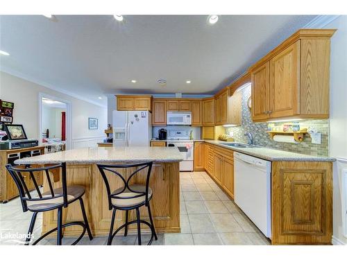
[[[85,207],[84,207],[83,199],[82,199],[82,196],[85,193],[85,187],[79,186],[79,185],[67,186],[66,163],[62,162],[61,164],[40,167],[40,168],[31,168],[30,165],[26,165],[25,168],[24,167],[20,168],[20,167],[21,166],[12,166],[11,164],[6,165],[8,172],[10,173],[11,177],[15,181],[15,184],[18,188],[19,198],[22,202],[23,211],[33,212],[33,216],[31,218],[31,223],[29,226],[28,236],[27,236],[25,245],[28,245],[31,240],[30,237],[31,237],[31,234],[33,233],[37,213],[44,212],[44,211],[51,211],[54,209],[58,209],[57,227],[49,230],[49,232],[46,232],[45,234],[40,236],[40,238],[37,239],[33,243],[33,245],[36,245],[44,237],[48,236],[49,234],[55,231],[57,231],[57,245],[62,245],[62,228],[69,227],[71,225],[79,225],[83,227],[82,234],[71,245],[76,245],[82,239],[86,229],[87,229],[89,239],[92,240],[93,236],[92,236],[92,232],[90,231],[90,226],[88,224],[87,215],[85,214]],[[53,171],[54,169],[60,169],[60,168],[62,173],[62,187],[58,189],[53,189],[51,177],[49,176],[49,171]],[[38,175],[40,175],[40,174],[37,174],[38,172],[41,172],[40,174],[46,173],[46,179],[49,184],[49,191],[41,193],[37,185],[37,179],[36,179]],[[28,173],[30,175],[38,196],[35,196],[34,198],[31,197],[31,194],[28,189],[28,181],[24,180],[26,179],[24,173],[26,174]],[[72,202],[76,200],[79,200],[81,204],[83,222],[74,221],[74,222],[62,224],[62,208],[68,207],[69,204],[71,204]]]

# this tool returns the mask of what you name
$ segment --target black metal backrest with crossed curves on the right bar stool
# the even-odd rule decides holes
[[[132,198],[139,198],[141,196],[145,196],[145,205],[148,205],[149,203],[149,177],[151,175],[151,170],[152,170],[152,165],[153,162],[142,162],[139,164],[112,164],[112,165],[107,165],[107,164],[96,164],[99,168],[99,171],[103,177],[103,180],[105,182],[106,186],[106,191],[108,195],[108,206],[110,209],[112,209],[112,198],[115,199],[120,199],[120,200],[125,200],[125,199],[132,199]],[[129,175],[129,177],[126,179],[124,176],[117,171],[117,169],[124,169],[124,168],[133,168],[136,167],[137,169],[133,171]],[[146,171],[146,189],[145,191],[135,191],[131,189],[130,187],[130,180],[139,172],[144,170],[144,168],[148,168]],[[119,179],[123,182],[124,187],[122,189],[117,189],[117,192],[111,193],[110,189],[110,182],[108,181],[108,177],[106,176],[105,172],[110,172],[115,174]],[[126,198],[124,196],[118,196],[119,194],[123,193],[124,191],[131,191],[132,193],[135,193],[134,196],[127,196]]]

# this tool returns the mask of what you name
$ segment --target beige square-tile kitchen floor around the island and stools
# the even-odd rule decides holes
[[[18,198],[0,205],[0,232],[26,234],[31,213],[23,213]],[[226,196],[205,172],[180,173],[179,234],[158,234],[154,245],[269,245],[270,242],[244,213]],[[34,236],[42,229],[42,214],[37,216]],[[35,240],[35,239],[34,239]],[[105,245],[106,237],[92,241],[83,238],[79,245]],[[149,235],[142,236],[142,243]],[[63,239],[69,245],[74,239]],[[54,245],[56,239],[45,239],[40,244]],[[0,236],[0,245],[19,244]],[[114,245],[137,245],[137,236],[116,236]]]

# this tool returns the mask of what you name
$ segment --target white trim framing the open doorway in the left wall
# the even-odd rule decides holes
[[[67,119],[66,119],[65,146],[66,146],[66,150],[71,149],[72,148],[71,102],[67,101],[63,98],[58,98],[57,96],[51,96],[51,95],[43,93],[43,92],[39,92],[39,135],[38,135],[38,137],[40,137],[39,145],[40,146],[42,145],[42,98],[49,98],[49,99],[52,99],[54,101],[59,101],[59,102],[66,104]]]

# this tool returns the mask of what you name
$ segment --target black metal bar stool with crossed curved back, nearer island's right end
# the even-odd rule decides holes
[[[139,164],[122,164],[122,165],[105,165],[105,164],[97,164],[99,171],[101,175],[103,176],[103,180],[105,182],[106,191],[108,195],[108,207],[110,210],[113,209],[112,212],[112,219],[111,219],[111,225],[110,225],[110,233],[108,234],[108,245],[112,244],[112,240],[121,230],[123,227],[125,227],[124,230],[124,236],[127,236],[128,234],[128,225],[137,223],[137,240],[139,242],[139,245],[141,245],[141,223],[149,226],[151,229],[151,239],[149,240],[148,245],[151,245],[153,241],[153,237],[155,240],[158,240],[157,234],[155,233],[155,227],[153,225],[153,219],[151,214],[151,207],[149,205],[149,201],[152,198],[152,189],[149,187],[149,177],[151,175],[151,169],[152,169],[153,162],[144,162]],[[117,169],[121,168],[132,168],[136,167],[137,169],[131,173],[126,180],[121,173],[117,171]],[[136,175],[136,173],[139,173],[144,168],[148,168],[148,171],[146,171],[146,183],[145,184],[130,184],[130,180]],[[108,182],[108,177],[106,176],[105,172],[114,173],[117,177],[119,177],[122,182],[124,183],[124,187],[121,187],[119,189],[116,189],[115,191],[110,190],[110,184]],[[151,223],[141,220],[139,218],[139,208],[145,206],[148,209],[149,212],[149,220]],[[125,210],[126,211],[126,223],[124,225],[121,225],[118,227],[118,229],[113,232],[113,225],[115,224],[115,217],[116,217],[116,211],[119,210]],[[136,216],[137,220],[128,221],[128,211],[131,209],[136,210]]]

